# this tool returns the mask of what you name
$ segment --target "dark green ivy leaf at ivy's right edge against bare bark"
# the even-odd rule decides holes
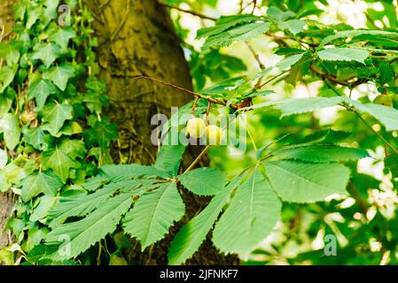
[[[101,149],[107,149],[113,139],[118,138],[118,127],[109,118],[103,117],[101,121],[96,121],[89,130],[85,131],[83,136],[88,147],[98,144]]]

